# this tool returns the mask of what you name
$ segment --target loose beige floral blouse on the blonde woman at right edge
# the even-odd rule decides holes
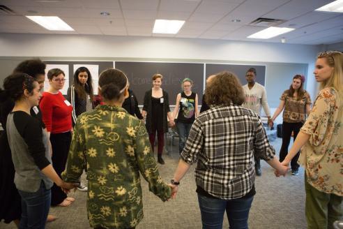
[[[343,196],[343,98],[335,89],[319,92],[301,131],[310,135],[298,160],[306,168],[307,182]]]

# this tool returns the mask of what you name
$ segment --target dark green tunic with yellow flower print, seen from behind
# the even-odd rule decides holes
[[[123,108],[98,105],[78,117],[63,179],[77,182],[84,165],[93,228],[132,228],[143,219],[139,172],[150,191],[162,201],[170,198],[171,189],[159,175],[144,124]]]

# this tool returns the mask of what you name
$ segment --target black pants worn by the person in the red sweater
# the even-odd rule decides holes
[[[50,134],[50,141],[52,145],[52,166],[57,175],[61,177],[61,173],[66,168],[66,162],[68,158],[68,152],[71,142],[71,133],[52,133]],[[66,193],[63,193],[61,187],[52,186],[51,189],[51,205],[59,205],[67,198]]]

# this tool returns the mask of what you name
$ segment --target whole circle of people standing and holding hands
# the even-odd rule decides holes
[[[222,228],[225,211],[230,228],[247,228],[262,158],[277,177],[287,174],[289,163],[292,175],[303,165],[307,227],[332,228],[343,216],[342,68],[342,52],[318,54],[314,77],[321,90],[312,109],[303,89],[305,77],[295,75],[271,116],[254,68],[247,71],[244,86],[234,73],[209,76],[200,111],[193,82],[185,78],[171,112],[163,76],[155,74],[140,112],[128,77],[118,69],[100,74],[96,96],[89,69],[78,68],[65,98],[61,69],[48,71],[49,89],[42,93],[45,64],[23,61],[0,91],[5,129],[0,138],[0,219],[19,228],[45,228],[56,220],[49,207],[72,205],[75,199],[68,193],[77,188],[88,191],[92,228],[135,228],[143,218],[139,173],[150,191],[166,201],[176,198],[178,184],[197,163],[203,228]],[[261,108],[272,128],[283,110],[280,159],[269,144]],[[172,181],[163,182],[153,156],[155,136],[157,161],[163,165],[164,134],[175,126],[180,160]],[[88,187],[80,183],[84,170]]]

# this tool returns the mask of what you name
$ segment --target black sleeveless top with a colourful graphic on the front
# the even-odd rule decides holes
[[[197,94],[192,92],[187,96],[185,92],[181,93],[180,108],[178,110],[178,121],[185,124],[192,124],[195,120],[195,97]]]

